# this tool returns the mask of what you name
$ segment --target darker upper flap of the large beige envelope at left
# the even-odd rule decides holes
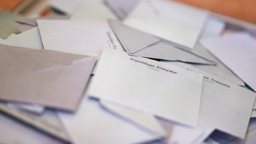
[[[70,64],[74,60],[84,59],[84,55],[57,52],[54,50],[35,50],[25,47],[0,44],[1,62],[26,66],[27,71],[36,71],[50,66]],[[8,60],[8,61],[7,61]],[[15,64],[15,65],[16,65]],[[20,66],[22,68],[22,66]]]

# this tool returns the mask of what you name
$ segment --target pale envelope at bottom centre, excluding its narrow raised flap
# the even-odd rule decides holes
[[[76,113],[59,112],[59,116],[73,143],[145,143],[165,135],[162,131],[152,132],[121,119],[87,97]]]

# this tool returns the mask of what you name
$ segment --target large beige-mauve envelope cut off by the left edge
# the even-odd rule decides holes
[[[95,58],[0,45],[0,100],[75,111]]]

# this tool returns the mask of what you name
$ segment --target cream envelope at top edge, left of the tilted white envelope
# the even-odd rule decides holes
[[[104,0],[83,1],[73,12],[71,20],[108,20],[117,19],[116,15],[104,4]]]

